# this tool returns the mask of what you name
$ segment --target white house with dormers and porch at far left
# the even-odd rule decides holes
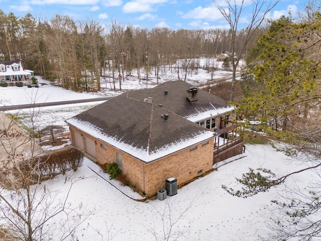
[[[24,70],[21,60],[0,61],[0,82],[17,82],[32,84],[34,71]]]

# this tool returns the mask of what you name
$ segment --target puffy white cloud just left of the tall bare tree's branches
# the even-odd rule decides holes
[[[222,19],[222,15],[216,7],[203,8],[201,6],[189,11],[187,14],[184,14],[182,17],[184,19],[207,19],[207,20]]]

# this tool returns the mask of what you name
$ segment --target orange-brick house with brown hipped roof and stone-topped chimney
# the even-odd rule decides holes
[[[180,185],[212,169],[220,146],[214,129],[234,128],[227,113],[233,110],[178,80],[127,91],[66,122],[72,145],[100,164],[116,162],[132,185],[153,196],[169,177]]]

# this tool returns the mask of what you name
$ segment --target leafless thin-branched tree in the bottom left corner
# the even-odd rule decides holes
[[[0,236],[10,240],[71,239],[75,229],[90,214],[82,205],[68,203],[69,191],[62,199],[46,183],[41,183],[39,170],[43,163],[42,149],[35,139],[35,119],[39,112],[30,109],[31,132],[24,133],[14,117],[1,113],[0,123]],[[60,224],[52,225],[53,218]],[[61,225],[61,228],[59,227]],[[57,228],[59,231],[57,232]]]

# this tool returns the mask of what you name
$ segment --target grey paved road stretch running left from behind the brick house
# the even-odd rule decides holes
[[[7,111],[7,110],[13,110],[13,109],[34,108],[34,107],[44,107],[44,106],[61,105],[61,104],[76,104],[76,103],[94,102],[94,101],[108,100],[108,99],[111,99],[113,97],[114,96],[97,97],[97,98],[91,98],[91,99],[65,100],[65,101],[47,102],[47,103],[8,105],[8,106],[0,106],[0,111]]]

